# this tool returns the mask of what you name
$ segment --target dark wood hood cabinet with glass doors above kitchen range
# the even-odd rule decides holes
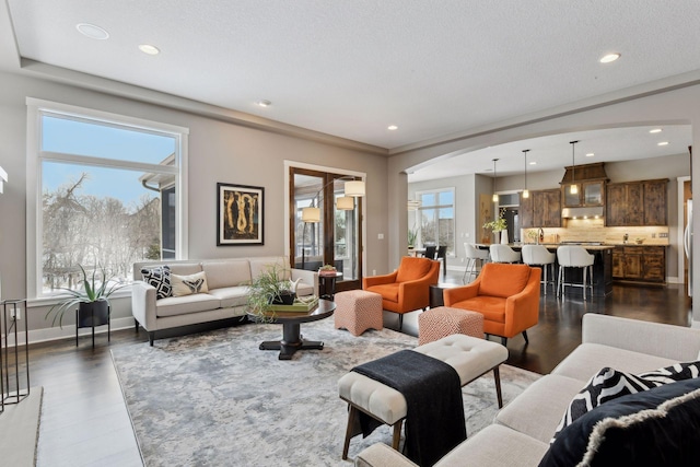
[[[605,184],[607,175],[604,163],[583,164],[564,167],[561,180],[561,199],[564,208],[605,206]],[[574,192],[572,185],[576,186]]]

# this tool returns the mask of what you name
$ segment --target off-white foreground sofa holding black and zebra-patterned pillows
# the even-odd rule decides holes
[[[501,409],[493,424],[462,442],[435,467],[537,466],[565,408],[600,369],[641,373],[700,360],[700,329],[586,314],[582,340],[551,374]],[[358,454],[355,466],[415,464],[377,443]]]

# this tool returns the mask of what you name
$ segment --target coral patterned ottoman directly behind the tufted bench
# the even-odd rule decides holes
[[[467,310],[439,306],[418,316],[419,346],[453,334],[483,339],[483,315]]]

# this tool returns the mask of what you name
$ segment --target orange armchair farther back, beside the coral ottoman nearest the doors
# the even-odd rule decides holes
[[[430,304],[430,285],[438,283],[440,261],[405,256],[398,269],[386,276],[362,279],[362,289],[382,295],[382,306],[398,313],[398,328],[404,313],[422,310]]]

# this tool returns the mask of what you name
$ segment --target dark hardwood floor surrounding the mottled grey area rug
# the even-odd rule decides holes
[[[441,278],[462,282],[460,273]],[[529,345],[522,336],[509,339],[509,364],[537,373],[550,372],[581,341],[581,317],[604,313],[651,322],[687,326],[690,300],[682,287],[642,288],[615,285],[606,299],[584,302],[581,297],[557,300],[553,292],[542,295],[539,324],[528,330]],[[404,318],[404,331],[417,334],[418,312]],[[395,314],[386,316],[387,327],[396,328]],[[90,338],[30,346],[32,386],[44,386],[44,404],[37,464],[39,466],[140,466],[133,431],[109,350],[141,342],[143,330],[133,329]]]

